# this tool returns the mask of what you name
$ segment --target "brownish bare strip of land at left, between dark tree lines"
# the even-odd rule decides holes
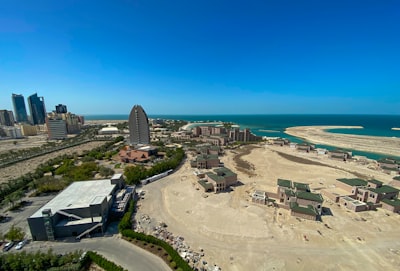
[[[102,141],[93,141],[79,146],[71,147],[68,149],[59,150],[46,154],[43,156],[35,157],[23,162],[13,164],[11,166],[0,169],[0,183],[6,182],[9,179],[18,178],[28,172],[34,172],[39,164],[42,164],[50,159],[56,158],[64,154],[72,154],[74,152],[81,153],[85,150],[92,150],[96,147],[103,145]]]

